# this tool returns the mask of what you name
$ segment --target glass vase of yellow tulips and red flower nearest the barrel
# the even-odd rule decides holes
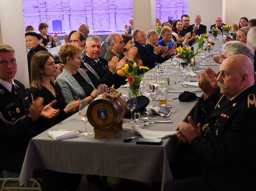
[[[137,66],[136,62],[130,64],[133,68],[131,72],[129,72],[129,65],[125,64],[124,67],[122,67],[121,70],[118,70],[116,73],[120,76],[126,76],[126,80],[129,84],[129,90],[131,95],[138,96],[138,93],[140,91],[140,83],[142,78],[144,77],[145,70],[149,70],[148,67],[145,66]],[[143,75],[137,76],[137,69],[143,69]]]

